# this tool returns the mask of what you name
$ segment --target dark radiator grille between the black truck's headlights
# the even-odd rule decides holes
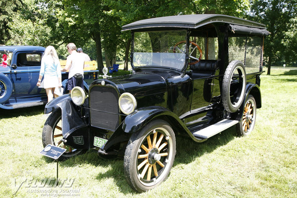
[[[90,90],[91,125],[115,131],[119,126],[118,93],[112,87],[95,86]]]

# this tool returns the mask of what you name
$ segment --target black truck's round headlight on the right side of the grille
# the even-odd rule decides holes
[[[124,93],[119,98],[119,106],[123,113],[129,115],[137,106],[136,99],[130,93]]]

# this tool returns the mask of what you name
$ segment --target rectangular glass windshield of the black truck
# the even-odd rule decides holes
[[[180,50],[177,44],[186,41],[186,34],[186,31],[135,32],[132,59],[134,67],[154,66],[182,70],[186,61],[186,45]]]

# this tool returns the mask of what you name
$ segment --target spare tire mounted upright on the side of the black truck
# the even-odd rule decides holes
[[[230,62],[225,71],[222,84],[222,102],[228,112],[236,112],[243,103],[246,82],[244,64],[239,60]]]

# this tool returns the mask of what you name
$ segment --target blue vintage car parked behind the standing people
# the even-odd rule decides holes
[[[0,108],[23,108],[48,102],[45,89],[36,86],[44,51],[44,47],[38,46],[0,46]],[[98,70],[85,72],[84,78],[93,81],[93,73]],[[68,73],[62,72],[63,85],[67,78]],[[88,90],[88,84],[84,84]]]

